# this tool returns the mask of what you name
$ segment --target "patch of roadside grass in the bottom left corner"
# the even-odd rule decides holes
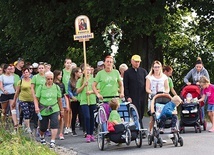
[[[8,126],[0,120],[0,154],[1,155],[57,155],[48,146],[36,142],[34,137],[27,135],[21,129],[12,134],[13,126]]]

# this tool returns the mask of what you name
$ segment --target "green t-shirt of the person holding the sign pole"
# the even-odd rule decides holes
[[[78,79],[76,88],[80,88],[82,86],[82,78]],[[87,90],[90,91],[92,90],[92,83],[94,82],[94,78],[92,76],[89,77],[88,79],[88,86]],[[80,105],[94,105],[96,104],[96,95],[95,94],[90,94],[89,97],[86,95],[86,87],[82,90],[81,93],[78,94],[78,100],[80,101]],[[89,102],[89,103],[88,103]]]

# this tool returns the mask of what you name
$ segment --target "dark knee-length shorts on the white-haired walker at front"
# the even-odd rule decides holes
[[[47,131],[48,124],[50,120],[50,128],[58,129],[59,128],[59,120],[58,120],[59,112],[55,112],[49,116],[42,116],[42,120],[40,120],[40,130],[42,132]]]

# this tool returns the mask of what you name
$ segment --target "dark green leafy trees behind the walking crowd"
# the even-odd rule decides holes
[[[0,62],[10,63],[22,56],[31,62],[47,61],[53,68],[62,68],[63,60],[69,56],[80,65],[83,49],[81,43],[73,41],[74,20],[85,14],[95,36],[86,43],[91,65],[109,54],[104,52],[102,33],[113,21],[123,30],[116,66],[129,64],[131,55],[139,54],[142,66],[149,70],[157,59],[173,66],[180,85],[181,77],[193,67],[197,56],[204,60],[213,57],[212,4],[209,0],[0,1]],[[182,16],[191,12],[198,16],[183,28]],[[196,36],[200,40],[194,39]],[[211,60],[204,63],[211,68]]]

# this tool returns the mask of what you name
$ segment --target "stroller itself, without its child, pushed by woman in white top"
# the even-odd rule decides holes
[[[155,99],[154,103],[154,110],[155,113],[152,114],[154,126],[151,135],[148,135],[148,144],[154,145],[154,148],[157,147],[157,144],[159,144],[160,147],[163,146],[162,138],[160,137],[160,120],[158,119],[159,115],[161,114],[161,111],[165,104],[171,100],[169,94],[158,94],[158,97]],[[167,118],[164,129],[171,128],[171,119]],[[167,132],[165,132],[167,133]],[[180,146],[183,146],[183,138],[180,137],[179,131],[178,132],[168,132],[168,134],[172,134],[171,140],[173,144],[177,147],[178,143],[180,143]]]

